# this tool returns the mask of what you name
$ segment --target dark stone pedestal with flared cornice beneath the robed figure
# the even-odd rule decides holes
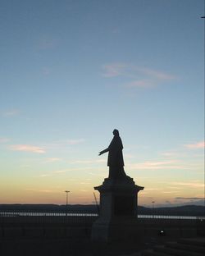
[[[138,193],[144,187],[135,185],[133,179],[105,179],[103,185],[94,187],[100,193],[100,213],[93,223],[92,240],[125,241],[139,235],[137,222]]]

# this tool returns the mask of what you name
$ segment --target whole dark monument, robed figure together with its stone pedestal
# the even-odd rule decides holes
[[[137,222],[138,193],[144,187],[135,182],[124,171],[123,145],[118,130],[113,130],[113,139],[107,149],[109,176],[102,185],[94,187],[100,193],[99,217],[93,222],[91,239],[100,243],[134,243],[143,239],[143,230]],[[142,233],[142,235],[141,235]]]

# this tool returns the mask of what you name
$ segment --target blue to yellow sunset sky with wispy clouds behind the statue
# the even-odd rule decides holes
[[[120,131],[139,205],[204,198],[203,0],[0,2],[0,203],[94,203]]]

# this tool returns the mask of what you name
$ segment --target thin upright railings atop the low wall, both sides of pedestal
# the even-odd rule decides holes
[[[0,210],[0,223],[84,223],[89,224],[98,218],[98,212],[93,209],[77,209],[77,210],[48,210],[48,209],[19,209],[19,210]],[[204,216],[193,216],[191,213],[186,215],[168,214],[167,212],[155,211],[152,214],[142,213],[139,211],[139,222],[196,222],[205,221]]]

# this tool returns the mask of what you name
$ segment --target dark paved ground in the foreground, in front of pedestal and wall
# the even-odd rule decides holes
[[[204,238],[196,238],[204,239]],[[7,239],[0,240],[1,256],[140,256],[144,249],[162,245],[170,238],[148,238],[137,243],[99,244],[90,240]]]

